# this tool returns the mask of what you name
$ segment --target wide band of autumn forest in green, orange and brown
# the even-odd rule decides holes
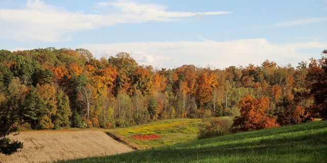
[[[156,69],[126,52],[98,60],[83,48],[0,50],[0,111],[18,129],[230,116],[242,131],[326,119],[326,53],[296,67]]]

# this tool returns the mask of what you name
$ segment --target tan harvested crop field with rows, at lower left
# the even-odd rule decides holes
[[[24,148],[12,155],[0,154],[0,162],[46,162],[133,151],[102,131],[25,131],[12,140]]]

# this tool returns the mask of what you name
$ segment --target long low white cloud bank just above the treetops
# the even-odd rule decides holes
[[[169,47],[182,48],[169,48]],[[129,42],[114,44],[84,44],[95,57],[115,56],[116,53],[129,52],[137,63],[154,67],[175,68],[184,64],[216,68],[229,66],[260,65],[266,59],[278,65],[291,63],[296,66],[308,61],[312,55],[320,55],[327,43],[306,42],[275,45],[266,39],[242,39],[233,41],[177,41],[177,42]],[[168,47],[168,48],[167,48]],[[317,48],[317,52],[304,52],[303,49]]]

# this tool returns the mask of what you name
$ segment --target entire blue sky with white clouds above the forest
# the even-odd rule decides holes
[[[296,67],[327,49],[327,0],[0,0],[0,49],[46,47],[158,69]]]

